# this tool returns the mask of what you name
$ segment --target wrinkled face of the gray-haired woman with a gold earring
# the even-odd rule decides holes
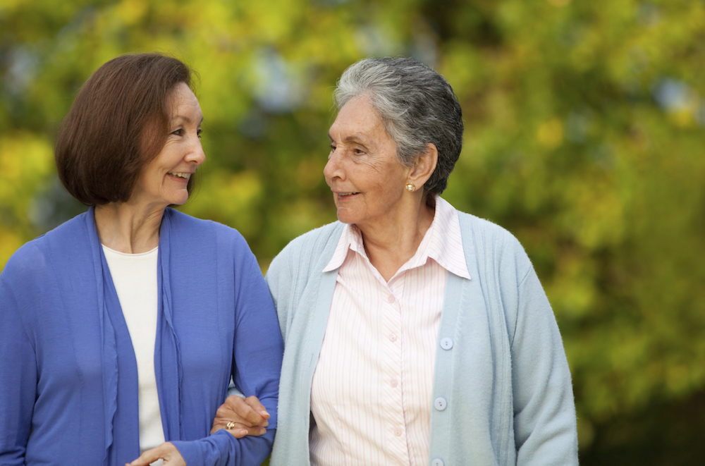
[[[350,100],[329,130],[324,168],[338,220],[364,229],[395,221],[410,168],[396,157],[396,143],[367,96]]]

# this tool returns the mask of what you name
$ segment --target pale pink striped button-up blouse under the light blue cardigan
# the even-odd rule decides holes
[[[416,254],[388,283],[355,226],[324,271],[338,267],[311,390],[311,464],[426,465],[446,271],[470,278],[458,212],[436,197]]]

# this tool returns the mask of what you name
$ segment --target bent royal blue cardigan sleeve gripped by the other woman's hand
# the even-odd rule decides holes
[[[271,452],[276,431],[276,408],[283,343],[269,290],[252,255],[235,303],[233,379],[245,396],[257,396],[269,412],[262,436],[235,439],[220,430],[197,441],[173,441],[188,466],[256,466]]]

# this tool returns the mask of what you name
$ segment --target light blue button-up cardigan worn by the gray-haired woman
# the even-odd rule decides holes
[[[429,465],[577,465],[568,362],[532,264],[503,228],[458,215],[471,279],[446,281]],[[266,275],[285,348],[272,466],[310,464],[311,384],[338,274],[321,271],[342,231],[335,222],[296,238]]]

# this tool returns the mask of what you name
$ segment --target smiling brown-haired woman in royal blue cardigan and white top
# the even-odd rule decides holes
[[[63,121],[59,177],[90,209],[0,275],[3,465],[259,465],[271,450],[283,345],[257,261],[237,231],[169,208],[205,159],[190,85],[177,59],[121,56]],[[261,401],[263,435],[209,436],[231,378]]]

